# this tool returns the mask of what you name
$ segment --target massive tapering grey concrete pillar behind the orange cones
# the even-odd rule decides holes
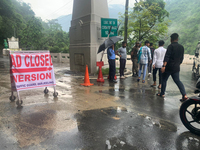
[[[101,18],[109,18],[107,0],[74,0],[70,27],[70,69],[96,72],[96,61],[99,45],[105,39],[101,38]]]

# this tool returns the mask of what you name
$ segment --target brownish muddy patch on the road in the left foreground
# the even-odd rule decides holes
[[[16,138],[20,147],[38,145],[58,132],[70,132],[77,128],[73,115],[53,109],[39,110],[15,116]]]

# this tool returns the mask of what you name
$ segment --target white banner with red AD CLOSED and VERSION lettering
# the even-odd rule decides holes
[[[10,78],[12,91],[55,86],[50,53],[10,51]]]

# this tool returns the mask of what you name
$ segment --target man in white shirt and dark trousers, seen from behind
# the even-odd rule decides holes
[[[157,48],[154,51],[154,56],[153,56],[153,81],[154,84],[152,84],[151,86],[156,86],[156,74],[157,71],[159,70],[159,85],[158,88],[161,89],[161,83],[162,83],[162,72],[161,72],[161,68],[163,65],[163,60],[165,57],[165,53],[166,53],[166,49],[163,47],[165,42],[163,40],[160,40],[158,42],[159,44],[159,48]]]

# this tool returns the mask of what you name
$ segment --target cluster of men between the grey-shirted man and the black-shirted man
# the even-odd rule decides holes
[[[146,77],[146,71],[148,68],[148,77],[151,76],[152,67],[153,67],[153,81],[154,84],[151,86],[156,86],[156,74],[157,71],[159,71],[159,85],[158,88],[161,88],[161,82],[162,82],[162,74],[161,74],[161,68],[163,65],[164,56],[166,53],[166,49],[164,46],[164,41],[160,40],[158,42],[159,48],[154,49],[153,43],[149,43],[149,41],[145,41],[145,46],[141,47],[141,44],[139,42],[136,42],[135,46],[132,49],[131,52],[131,60],[133,62],[132,72],[133,77],[138,76],[137,81],[140,81],[140,76],[142,72],[143,67],[143,80],[142,82],[145,83],[145,77]],[[150,47],[149,47],[150,46]],[[139,74],[138,74],[138,64],[139,64]]]

